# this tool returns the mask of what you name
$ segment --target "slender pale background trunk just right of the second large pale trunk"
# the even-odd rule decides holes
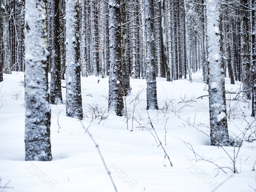
[[[85,0],[81,0],[82,7],[82,21],[81,21],[81,66],[82,66],[82,77],[87,77],[87,58],[86,58],[86,45],[85,45],[85,37],[86,37],[86,28],[85,28],[85,20],[86,20],[86,12],[85,12]]]

